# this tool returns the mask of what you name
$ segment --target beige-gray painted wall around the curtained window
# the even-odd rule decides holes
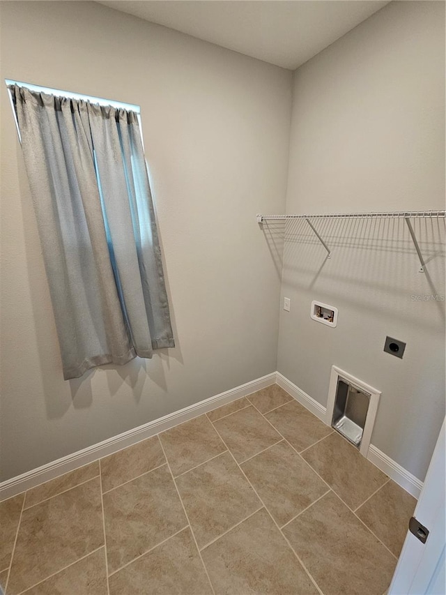
[[[176,349],[64,382],[6,87],[0,480],[276,369],[291,72],[96,3],[1,2],[1,78],[141,105]]]

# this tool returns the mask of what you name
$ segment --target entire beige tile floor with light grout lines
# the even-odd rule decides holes
[[[415,499],[273,384],[0,503],[6,595],[383,595]]]

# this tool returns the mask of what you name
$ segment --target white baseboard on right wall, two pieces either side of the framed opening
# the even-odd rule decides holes
[[[298,386],[293,384],[291,380],[284,377],[280,372],[277,372],[277,384],[282,386],[287,393],[289,393],[295,400],[300,402],[300,405],[306,407],[312,414],[316,415],[323,423],[327,423],[325,414],[327,409],[321,405],[318,401],[314,398],[310,397],[302,391]],[[385,453],[380,451],[376,448],[373,444],[370,444],[369,450],[367,451],[367,459],[370,462],[373,462],[378,469],[380,469],[383,473],[393,479],[395,483],[401,485],[403,490],[409,492],[409,494],[413,495],[415,498],[420,496],[421,488],[423,487],[423,482],[420,479],[417,479],[413,474],[401,467],[396,461],[388,457]]]

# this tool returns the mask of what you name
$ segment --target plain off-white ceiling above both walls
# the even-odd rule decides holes
[[[388,1],[100,0],[100,3],[294,70]]]

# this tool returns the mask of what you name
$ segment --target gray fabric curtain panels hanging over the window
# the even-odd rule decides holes
[[[137,114],[10,91],[63,377],[174,347]]]

